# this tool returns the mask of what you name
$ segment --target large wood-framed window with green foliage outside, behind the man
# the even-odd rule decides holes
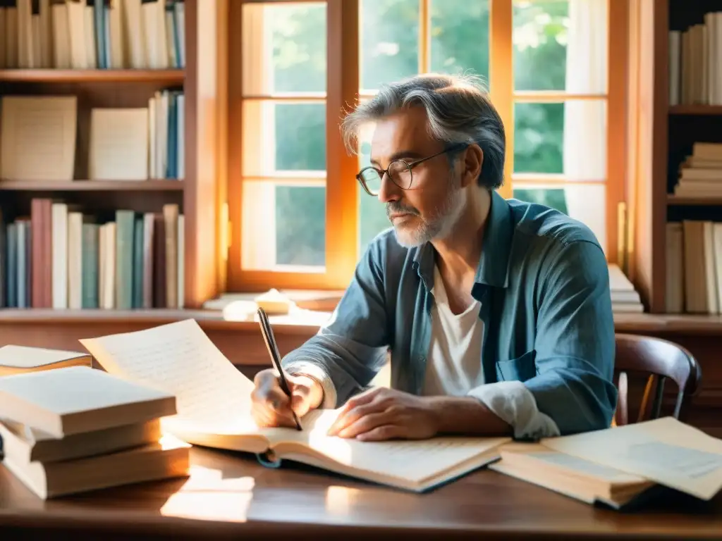
[[[390,224],[354,177],[368,145],[347,157],[339,116],[381,84],[427,71],[489,82],[508,134],[500,192],[584,221],[614,260],[624,126],[613,113],[623,116],[626,60],[609,20],[622,4],[233,2],[229,289],[347,285]]]

